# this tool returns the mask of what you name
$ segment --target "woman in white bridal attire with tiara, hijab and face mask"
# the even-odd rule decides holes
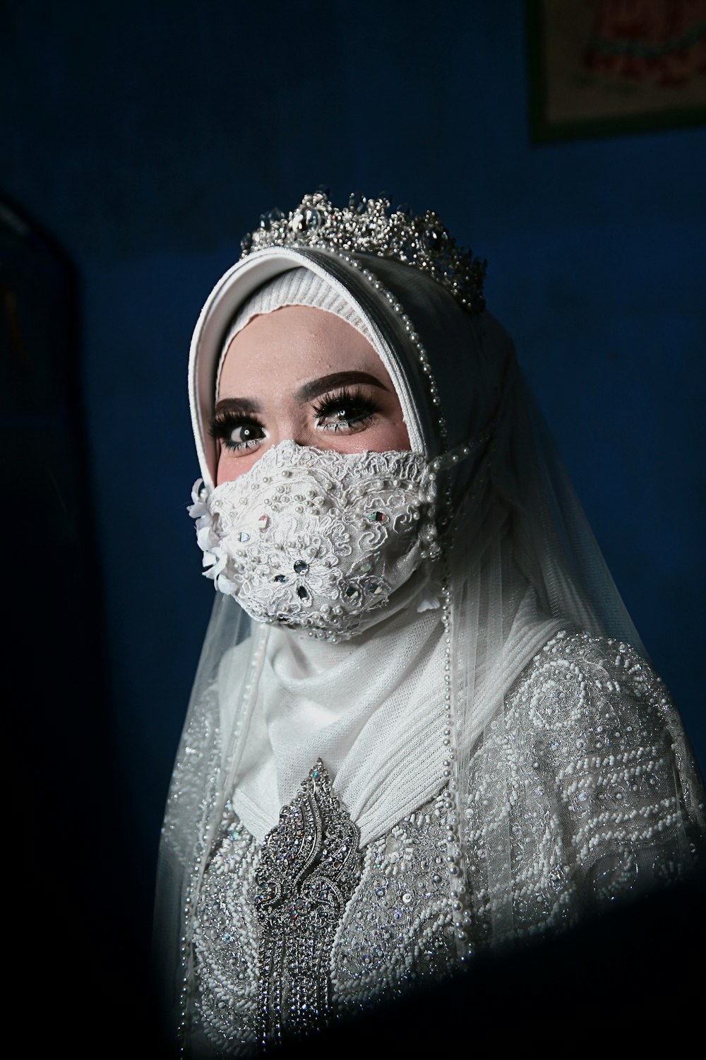
[[[159,909],[197,1056],[566,928],[683,874],[703,830],[484,266],[388,206],[273,212],[194,335],[220,591]]]

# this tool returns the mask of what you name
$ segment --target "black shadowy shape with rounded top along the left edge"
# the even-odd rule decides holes
[[[124,1048],[127,1025],[147,1026],[151,1005],[113,761],[79,351],[72,262],[0,198],[5,828],[21,837],[13,974],[32,990],[37,973],[43,980],[35,1041],[49,1046],[68,1021],[62,1050],[73,1041],[73,1055],[93,1055],[111,1027]]]

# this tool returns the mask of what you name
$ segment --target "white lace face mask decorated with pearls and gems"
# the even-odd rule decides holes
[[[195,484],[204,575],[258,622],[350,637],[438,554],[435,477],[417,453],[280,442],[234,481]]]

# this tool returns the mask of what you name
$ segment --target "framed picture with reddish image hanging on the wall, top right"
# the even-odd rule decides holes
[[[706,122],[706,0],[527,0],[535,143]]]

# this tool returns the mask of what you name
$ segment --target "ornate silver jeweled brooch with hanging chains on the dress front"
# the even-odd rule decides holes
[[[280,810],[255,870],[264,1045],[327,1023],[331,946],[360,880],[359,838],[318,761],[293,801]]]

